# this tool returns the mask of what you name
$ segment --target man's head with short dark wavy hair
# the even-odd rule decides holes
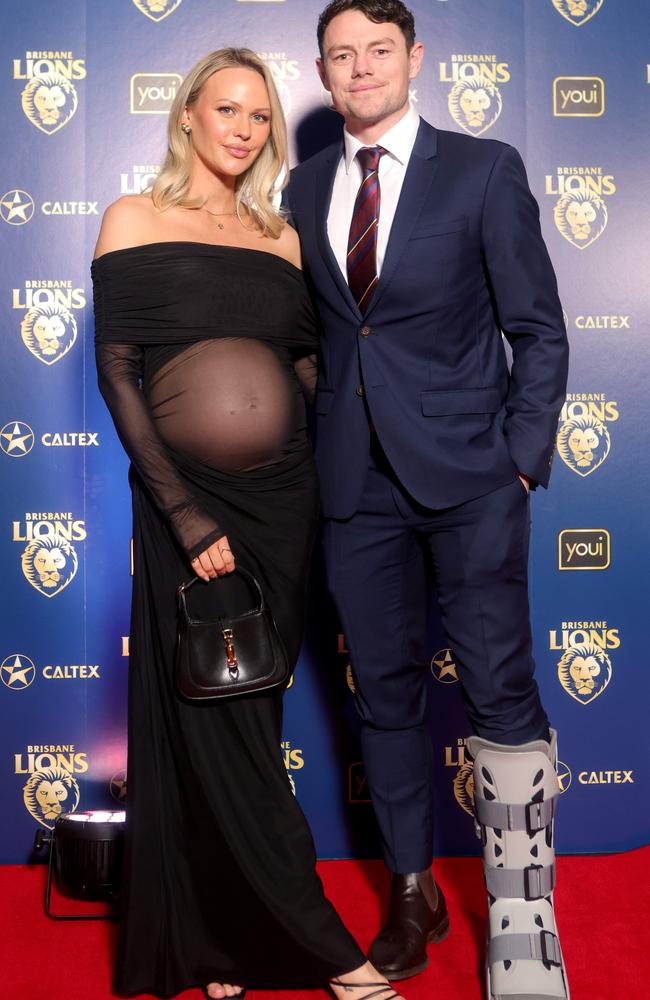
[[[420,71],[423,47],[410,52],[396,24],[376,24],[359,10],[347,10],[325,29],[318,72],[334,107],[352,131],[381,125],[386,131],[405,113],[409,81]]]

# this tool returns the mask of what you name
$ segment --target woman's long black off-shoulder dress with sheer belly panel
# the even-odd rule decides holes
[[[134,522],[115,987],[321,985],[365,958],[315,872],[281,755],[281,693],[197,704],[173,681],[175,592],[222,534],[298,655],[318,502],[297,376],[316,350],[302,273],[263,251],[174,242],[107,253],[92,274]],[[217,586],[246,604],[236,577]]]

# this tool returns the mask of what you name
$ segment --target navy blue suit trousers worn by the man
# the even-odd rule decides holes
[[[529,531],[519,478],[431,510],[400,486],[375,435],[356,513],[325,523],[328,582],[351,655],[368,784],[392,871],[422,871],[433,852],[427,562],[472,730],[513,746],[549,738],[533,678]]]

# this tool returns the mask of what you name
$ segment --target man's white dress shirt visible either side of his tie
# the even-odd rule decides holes
[[[381,274],[390,229],[395,218],[397,202],[419,127],[420,116],[411,105],[396,125],[393,125],[377,142],[372,143],[373,146],[382,146],[386,150],[379,161],[381,205],[377,231],[378,275]],[[343,130],[343,139],[345,150],[334,178],[332,201],[327,216],[327,236],[343,277],[347,281],[348,237],[354,203],[363,180],[361,164],[356,157],[357,152],[363,149],[364,143],[359,142],[345,129]]]

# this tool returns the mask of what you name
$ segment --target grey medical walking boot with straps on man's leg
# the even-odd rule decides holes
[[[523,746],[478,736],[474,813],[488,892],[488,1000],[568,1000],[553,912],[557,735]]]

